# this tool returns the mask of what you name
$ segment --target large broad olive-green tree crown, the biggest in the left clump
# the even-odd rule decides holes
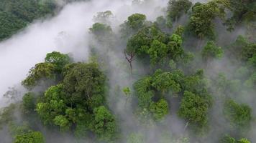
[[[65,66],[63,89],[73,107],[81,104],[93,111],[105,102],[105,75],[95,63]]]

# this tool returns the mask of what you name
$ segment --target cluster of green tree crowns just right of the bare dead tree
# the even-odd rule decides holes
[[[175,32],[177,34],[168,37],[156,26],[148,26],[129,39],[125,52],[139,59],[149,57],[152,65],[163,64],[168,58],[178,60],[185,54],[180,36],[183,27],[178,26]]]

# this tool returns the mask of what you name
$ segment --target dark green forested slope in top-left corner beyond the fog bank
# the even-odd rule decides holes
[[[35,19],[52,14],[55,1],[42,0],[1,0],[0,41],[23,29]]]

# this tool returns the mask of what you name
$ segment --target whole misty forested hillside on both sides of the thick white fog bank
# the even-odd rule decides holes
[[[150,11],[152,1],[131,6]],[[56,6],[0,0],[0,40]],[[256,142],[256,1],[169,0],[157,9],[154,20],[135,13],[118,26],[111,9],[99,11],[80,29],[89,34],[83,61],[45,54],[20,81],[22,97],[4,94],[3,142]]]

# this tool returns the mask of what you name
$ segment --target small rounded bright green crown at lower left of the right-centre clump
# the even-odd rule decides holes
[[[160,99],[158,102],[150,104],[150,112],[156,121],[162,120],[169,112],[168,102],[165,99]]]

